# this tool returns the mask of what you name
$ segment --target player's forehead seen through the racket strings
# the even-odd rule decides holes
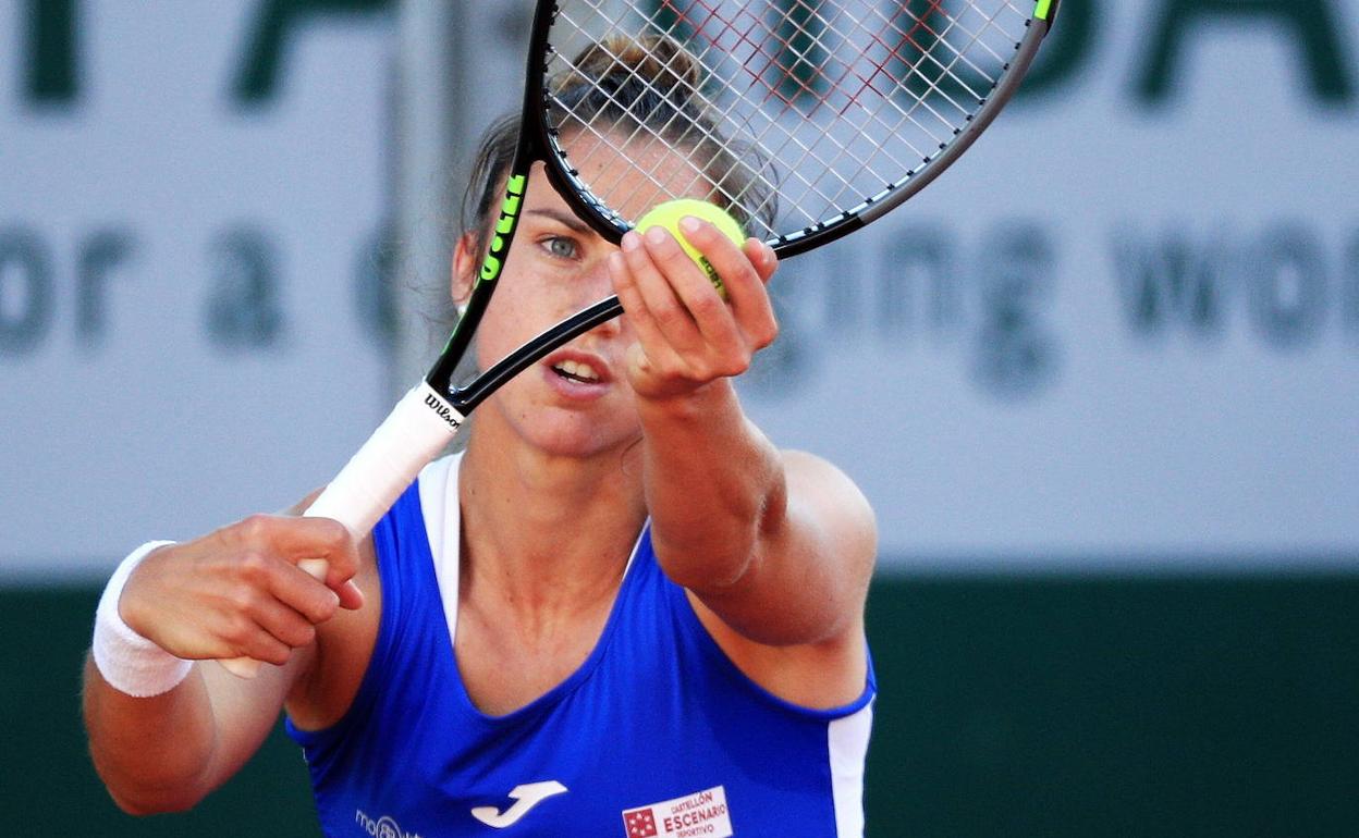
[[[662,201],[708,198],[713,192],[707,174],[684,149],[652,136],[626,139],[573,132],[561,147],[586,186],[629,221]]]

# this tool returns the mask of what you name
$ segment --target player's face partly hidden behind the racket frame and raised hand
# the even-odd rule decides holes
[[[637,217],[665,200],[641,175],[618,179],[614,152],[568,144],[586,182],[605,185],[618,196],[620,212]],[[686,164],[685,164],[686,166]],[[684,171],[671,152],[656,155],[652,172],[678,194],[704,197],[707,189]],[[609,182],[613,177],[616,182]],[[655,174],[652,175],[655,177]],[[675,194],[675,193],[671,193]],[[606,200],[613,200],[609,194]],[[542,164],[529,178],[500,287],[477,330],[477,360],[482,369],[553,323],[613,292],[605,268],[617,247],[576,217],[552,189]],[[463,262],[467,259],[463,258]],[[466,276],[470,265],[459,265]],[[477,266],[480,268],[480,266]],[[552,352],[506,384],[478,410],[552,454],[586,456],[631,445],[640,436],[633,393],[626,379],[626,352],[635,341],[626,316],[603,323]]]

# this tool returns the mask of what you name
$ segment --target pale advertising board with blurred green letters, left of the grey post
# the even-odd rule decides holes
[[[287,507],[385,413],[394,18],[313,5],[0,1],[0,576]]]

